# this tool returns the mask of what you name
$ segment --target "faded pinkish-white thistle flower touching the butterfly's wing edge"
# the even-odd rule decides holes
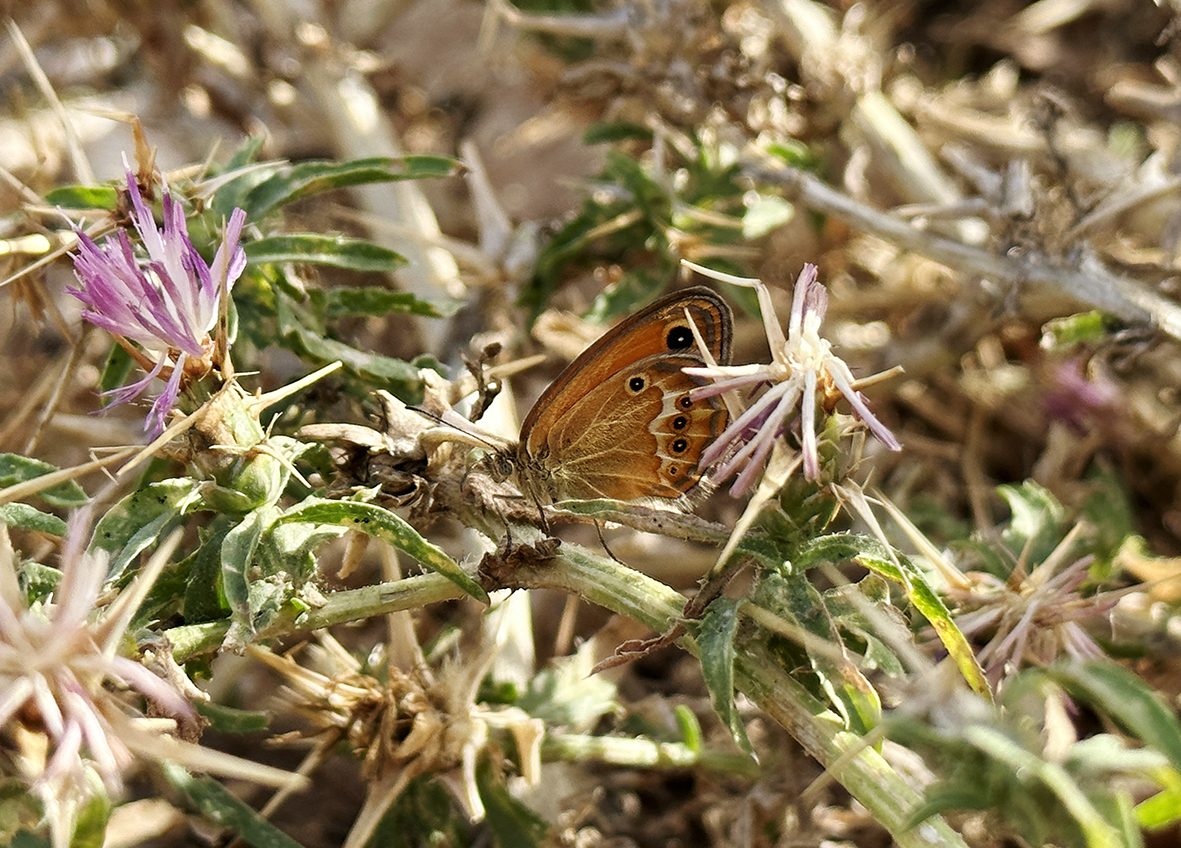
[[[762,282],[719,274],[692,262],[686,265],[724,282],[755,288],[763,312],[766,343],[771,348],[771,361],[765,365],[685,368],[687,374],[712,380],[711,385],[691,392],[694,399],[746,390],[762,384],[768,386],[702,455],[703,467],[722,461],[715,472],[719,481],[725,481],[740,470],[730,489],[732,495],[745,494],[755,485],[759,471],[771,455],[775,441],[787,431],[797,407],[804,476],[808,480],[820,477],[820,455],[816,443],[818,390],[827,396],[835,389],[849,402],[854,415],[882,444],[890,450],[901,450],[898,439],[870,411],[861,392],[856,390],[856,380],[849,366],[833,353],[831,343],[820,334],[828,309],[828,292],[817,279],[816,266],[805,265],[796,279],[788,333],[784,335],[783,328],[776,320],[770,292]]]

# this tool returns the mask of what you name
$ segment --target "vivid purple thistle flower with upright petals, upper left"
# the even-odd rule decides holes
[[[163,229],[157,228],[130,170],[128,196],[146,257],[136,256],[126,230],[102,244],[79,231],[74,275],[80,286],[68,292],[84,304],[83,318],[138,345],[136,358],[148,372],[142,380],[109,392],[107,407],[139,397],[157,377],[165,379],[145,422],[155,437],[176,405],[187,370],[204,373],[214,364],[209,333],[217,322],[221,285],[224,280],[229,291],[246,268],[239,243],[246,213],[235,209],[230,214],[226,239],[213,265],[207,265],[189,240],[181,204],[170,194],[164,194]]]

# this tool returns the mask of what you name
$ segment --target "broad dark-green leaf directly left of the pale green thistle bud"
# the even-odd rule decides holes
[[[149,483],[111,507],[94,527],[91,549],[111,554],[107,579],[163,539],[174,521],[201,503],[200,483],[189,477]]]

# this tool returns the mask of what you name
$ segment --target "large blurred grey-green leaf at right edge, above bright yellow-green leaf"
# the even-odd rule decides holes
[[[1102,661],[1055,665],[1045,673],[1163,754],[1181,771],[1181,724],[1161,696],[1140,677]]]

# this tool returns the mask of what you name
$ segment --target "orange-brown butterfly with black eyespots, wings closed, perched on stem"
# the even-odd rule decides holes
[[[679,498],[698,484],[705,448],[729,423],[718,397],[681,368],[704,364],[690,328],[718,364],[730,363],[733,318],[698,286],[660,298],[585,350],[533,405],[505,449],[517,481],[539,503]]]

